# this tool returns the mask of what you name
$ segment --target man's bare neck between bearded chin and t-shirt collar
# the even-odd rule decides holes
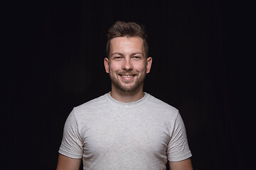
[[[139,101],[139,99],[144,97],[143,87],[139,88],[137,91],[133,92],[124,92],[120,91],[119,89],[112,88],[112,91],[110,92],[110,96],[114,98],[117,101],[123,102],[123,103],[131,103],[134,101]]]

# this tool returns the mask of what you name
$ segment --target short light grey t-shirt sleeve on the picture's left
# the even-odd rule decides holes
[[[74,110],[68,115],[63,130],[63,140],[58,151],[66,157],[74,159],[82,158],[82,140],[75,120]]]

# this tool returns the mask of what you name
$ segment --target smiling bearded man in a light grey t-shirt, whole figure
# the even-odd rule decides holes
[[[57,170],[191,170],[191,151],[178,110],[143,92],[152,58],[137,23],[108,32],[105,70],[110,93],[75,107],[66,120]]]

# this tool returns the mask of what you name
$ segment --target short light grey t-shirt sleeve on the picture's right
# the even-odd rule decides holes
[[[188,147],[185,125],[179,113],[174,123],[174,130],[172,131],[171,140],[167,148],[167,156],[170,162],[182,161],[192,156]]]

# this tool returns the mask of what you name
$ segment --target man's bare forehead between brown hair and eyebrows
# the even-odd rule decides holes
[[[143,52],[143,40],[139,37],[117,37],[110,41],[110,53],[112,52]]]

